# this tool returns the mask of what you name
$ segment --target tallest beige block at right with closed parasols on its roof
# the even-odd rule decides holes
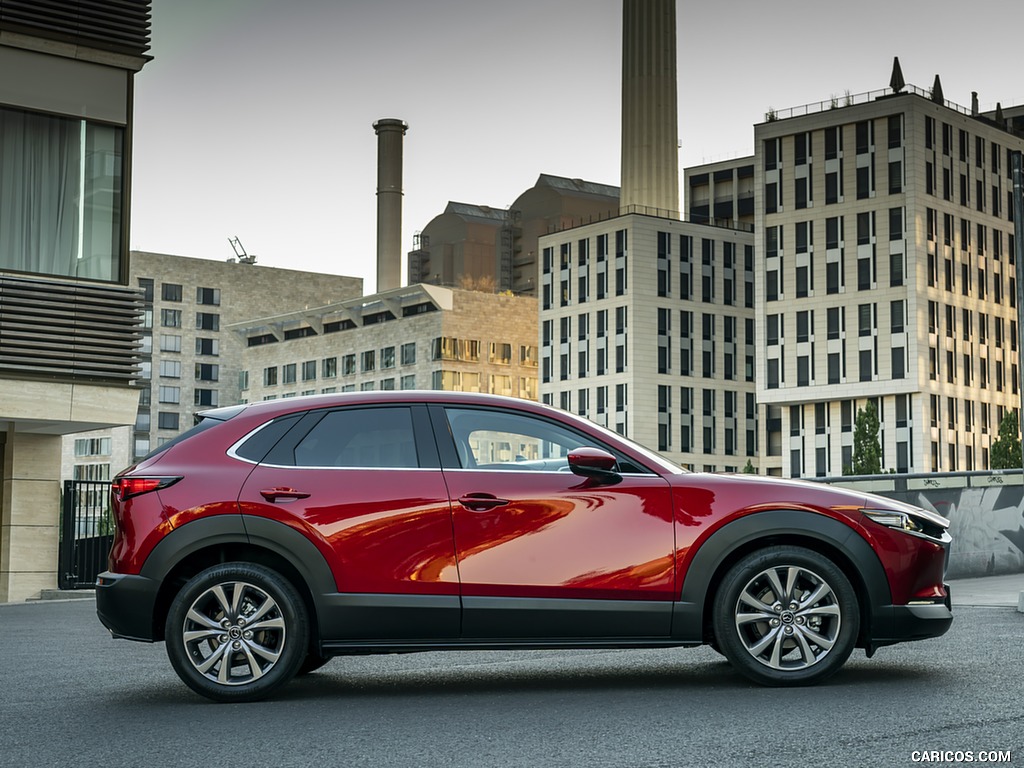
[[[1001,110],[1000,110],[1001,112]],[[1013,118],[906,87],[755,126],[758,401],[765,464],[852,464],[857,410],[883,468],[989,468],[1019,407]]]

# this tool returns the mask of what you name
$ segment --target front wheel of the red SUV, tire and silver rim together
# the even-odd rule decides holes
[[[718,646],[745,677],[762,685],[812,685],[849,658],[860,608],[831,560],[803,547],[768,547],[726,573],[713,623]]]

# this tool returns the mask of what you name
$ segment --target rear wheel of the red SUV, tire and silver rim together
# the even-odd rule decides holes
[[[194,577],[171,603],[165,630],[178,677],[214,701],[270,695],[296,675],[309,648],[309,620],[295,587],[255,563],[223,563]]]

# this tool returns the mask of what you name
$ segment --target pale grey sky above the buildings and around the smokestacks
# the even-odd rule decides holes
[[[771,109],[886,88],[893,56],[958,104],[1024,103],[1008,38],[1024,3],[676,12],[680,169],[753,155]],[[617,185],[621,28],[621,0],[153,0],[131,248],[226,260],[238,238],[258,264],[372,293],[381,118],[409,124],[403,253],[449,201],[507,208],[542,173]]]

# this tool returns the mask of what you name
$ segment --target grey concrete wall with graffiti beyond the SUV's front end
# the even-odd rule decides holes
[[[1024,573],[1024,472],[838,477],[830,484],[898,499],[949,518],[949,579]]]

